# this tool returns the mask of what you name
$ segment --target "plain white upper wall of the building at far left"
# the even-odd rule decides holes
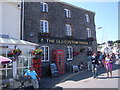
[[[2,2],[2,33],[20,39],[20,9],[17,2]]]

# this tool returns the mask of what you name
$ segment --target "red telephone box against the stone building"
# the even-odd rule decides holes
[[[58,73],[63,74],[65,73],[65,66],[64,62],[65,56],[63,50],[53,50],[52,51],[52,62],[55,62],[58,68]]]

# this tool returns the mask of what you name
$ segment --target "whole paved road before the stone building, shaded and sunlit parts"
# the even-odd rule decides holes
[[[80,71],[77,73],[66,72],[64,74],[59,75],[58,77],[43,76],[39,81],[39,84],[40,84],[39,90],[51,89],[51,88],[58,90],[58,89],[70,88],[70,87],[71,88],[90,88],[90,87],[100,88],[108,82],[113,82],[113,83],[110,83],[110,85],[113,84],[112,86],[114,86],[113,88],[115,88],[115,87],[118,87],[117,79],[120,78],[120,76],[118,76],[119,68],[120,66],[118,67],[115,65],[113,67],[113,78],[106,78],[105,69],[103,67],[99,67],[98,68],[99,76],[97,80],[93,79],[92,72],[88,70]],[[104,83],[100,86],[101,82],[104,82]],[[98,83],[98,84],[94,86],[93,83]],[[109,86],[109,84],[107,84],[107,86]],[[32,90],[32,89],[33,87],[30,86],[22,90]]]

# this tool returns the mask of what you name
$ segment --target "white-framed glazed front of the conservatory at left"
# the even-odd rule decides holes
[[[14,60],[13,57],[9,55],[9,53],[11,53],[13,48],[0,48],[0,49],[2,50],[2,52],[0,52],[1,56]],[[18,58],[12,61],[11,63],[0,64],[1,80],[10,79],[15,77],[16,75],[19,75],[19,76],[24,75],[24,69],[28,69],[32,64],[32,60],[31,60],[32,57],[31,57],[31,54],[28,54],[28,52],[29,50],[24,50],[24,54],[21,54],[20,56],[18,56]]]

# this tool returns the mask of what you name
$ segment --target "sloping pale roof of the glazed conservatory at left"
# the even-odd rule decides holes
[[[1,45],[28,45],[28,46],[39,46],[36,43],[28,42],[25,40],[19,40],[9,37],[8,35],[0,35]]]

